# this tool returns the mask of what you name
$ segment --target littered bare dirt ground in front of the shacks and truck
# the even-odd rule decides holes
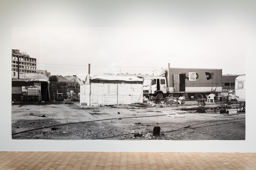
[[[18,103],[12,105],[12,139],[245,140],[245,112],[220,109],[196,101],[163,108]],[[153,136],[154,127],[160,136]]]

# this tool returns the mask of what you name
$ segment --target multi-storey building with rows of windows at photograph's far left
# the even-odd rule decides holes
[[[27,52],[20,53],[19,50],[12,50],[12,71],[19,73],[36,73],[36,59],[31,58]]]

